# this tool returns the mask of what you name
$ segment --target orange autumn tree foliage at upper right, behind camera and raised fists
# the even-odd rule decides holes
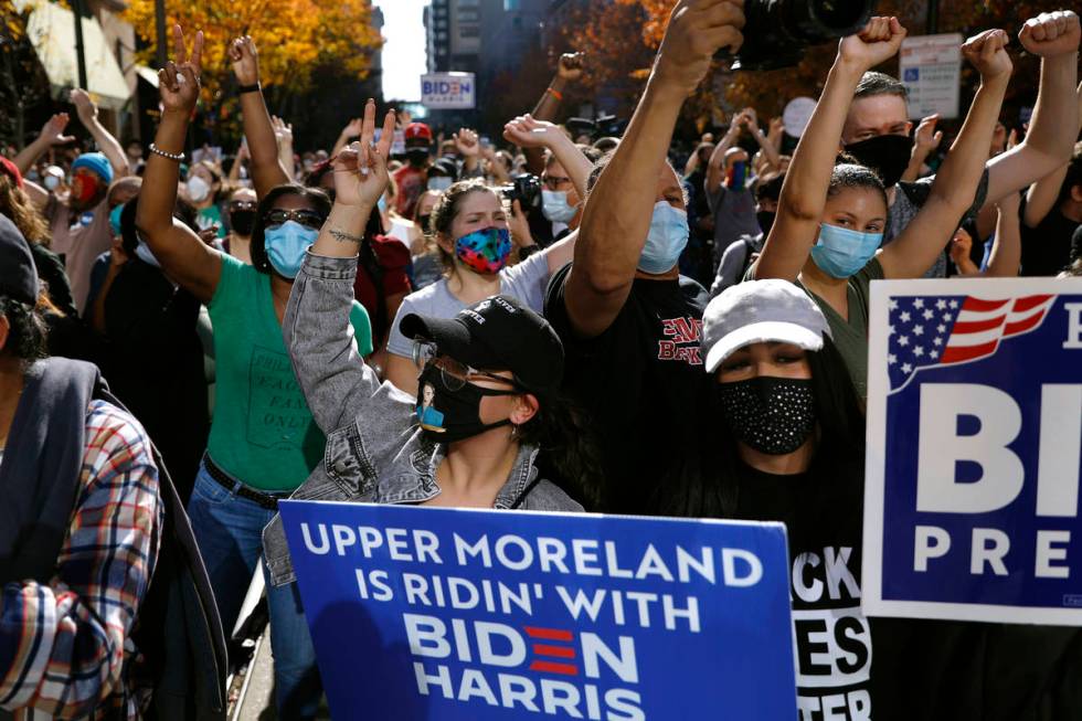
[[[567,15],[563,40],[567,47],[587,53],[588,74],[584,82],[609,93],[616,84],[615,87],[624,91],[619,96],[625,108],[634,107],[675,4],[676,0],[579,3]],[[1063,0],[942,0],[938,31],[968,35],[978,30],[1003,28],[1014,36],[1027,18],[1069,4]],[[881,0],[876,12],[898,15],[911,34],[923,34],[926,8],[926,0]],[[779,114],[795,96],[818,96],[834,56],[835,45],[827,44],[809,49],[796,67],[784,70],[730,73],[717,63],[699,92],[686,104],[685,120],[693,121],[701,131],[746,106],[756,108],[761,117]],[[897,61],[882,70],[897,73]],[[964,83],[974,79],[975,76],[963,77]],[[1036,86],[1036,59],[1017,57],[1015,81],[1005,105],[1031,104]]]

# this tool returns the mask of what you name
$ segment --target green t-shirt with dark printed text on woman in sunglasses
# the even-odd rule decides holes
[[[214,463],[263,490],[293,490],[323,455],[274,314],[270,276],[222,255],[208,306],[214,326],[218,388],[206,449]],[[350,324],[362,356],[372,352],[368,314],[353,301]]]

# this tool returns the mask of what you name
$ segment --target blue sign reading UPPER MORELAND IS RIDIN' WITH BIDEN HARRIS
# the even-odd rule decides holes
[[[280,510],[336,720],[797,718],[779,523]]]

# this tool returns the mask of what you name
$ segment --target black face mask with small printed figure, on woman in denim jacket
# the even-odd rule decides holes
[[[511,425],[510,418],[481,423],[481,399],[486,395],[518,395],[518,391],[497,391],[466,383],[457,391],[447,388],[443,371],[429,363],[418,379],[417,420],[425,436],[436,443],[454,443],[486,431]]]

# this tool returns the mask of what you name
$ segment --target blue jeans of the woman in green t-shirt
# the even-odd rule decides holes
[[[237,481],[240,483],[240,481]],[[255,564],[263,553],[263,528],[275,512],[226,490],[200,464],[188,516],[199,544],[226,635],[236,624]],[[274,587],[267,577],[270,650],[274,654],[278,718],[315,719],[322,695],[316,650],[311,645],[296,583]]]

